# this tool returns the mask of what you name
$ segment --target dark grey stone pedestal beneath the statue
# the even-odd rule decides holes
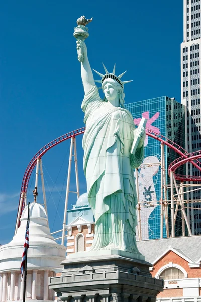
[[[76,253],[61,264],[62,275],[49,277],[49,288],[64,301],[75,302],[153,302],[163,291],[163,280],[153,278],[150,263],[123,255],[95,256],[95,252]],[[131,254],[132,256],[132,254]],[[142,259],[142,257],[139,257]]]

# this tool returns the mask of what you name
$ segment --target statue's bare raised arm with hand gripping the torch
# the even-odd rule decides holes
[[[81,62],[81,78],[84,86],[84,92],[86,94],[93,86],[95,86],[95,82],[88,61],[86,44],[80,40],[78,40],[76,43],[77,43],[77,51],[79,51],[79,49],[81,48],[84,56],[83,61]]]

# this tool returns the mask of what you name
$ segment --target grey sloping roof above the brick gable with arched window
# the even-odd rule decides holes
[[[150,263],[155,263],[168,250],[173,250],[192,263],[200,261],[201,258],[201,235],[143,240],[138,241],[137,246]]]

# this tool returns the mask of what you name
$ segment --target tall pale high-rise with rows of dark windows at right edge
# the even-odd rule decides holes
[[[188,152],[201,149],[200,116],[200,49],[201,17],[200,0],[184,0],[183,43],[181,44],[181,103],[186,105],[185,131]],[[186,165],[188,175],[200,175],[194,166]],[[193,188],[194,189],[194,188]],[[200,191],[189,193],[190,200],[199,200]],[[188,209],[193,234],[201,233],[200,204],[191,204]]]

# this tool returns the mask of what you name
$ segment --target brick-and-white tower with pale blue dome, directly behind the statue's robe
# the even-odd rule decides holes
[[[94,237],[94,224],[88,194],[84,193],[77,199],[72,210],[68,210],[67,255],[90,249]]]

